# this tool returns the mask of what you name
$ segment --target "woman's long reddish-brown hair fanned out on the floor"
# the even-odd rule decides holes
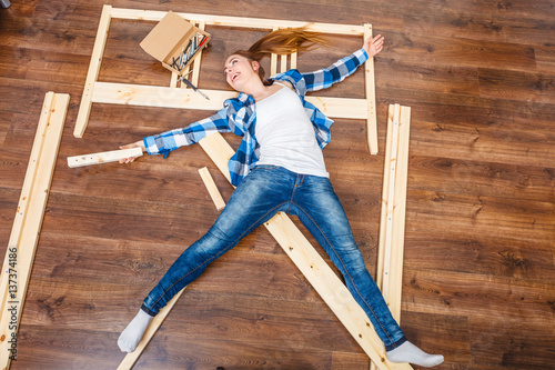
[[[307,51],[316,44],[329,46],[330,41],[322,33],[306,31],[305,27],[285,28],[268,33],[254,42],[249,50],[238,50],[232,53],[244,57],[250,61],[260,61],[268,54],[291,54],[299,51]],[[260,79],[264,84],[271,84],[265,77],[262,66],[259,68]]]

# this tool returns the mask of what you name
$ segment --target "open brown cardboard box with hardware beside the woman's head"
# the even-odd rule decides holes
[[[182,76],[209,41],[210,33],[169,11],[141,41],[141,48],[164,68]]]

